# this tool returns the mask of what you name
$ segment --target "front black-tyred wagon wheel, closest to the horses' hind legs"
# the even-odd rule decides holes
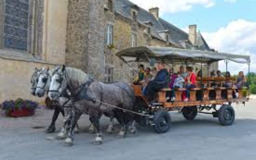
[[[165,133],[171,127],[171,116],[169,112],[160,110],[155,113],[153,124],[157,133]]]

